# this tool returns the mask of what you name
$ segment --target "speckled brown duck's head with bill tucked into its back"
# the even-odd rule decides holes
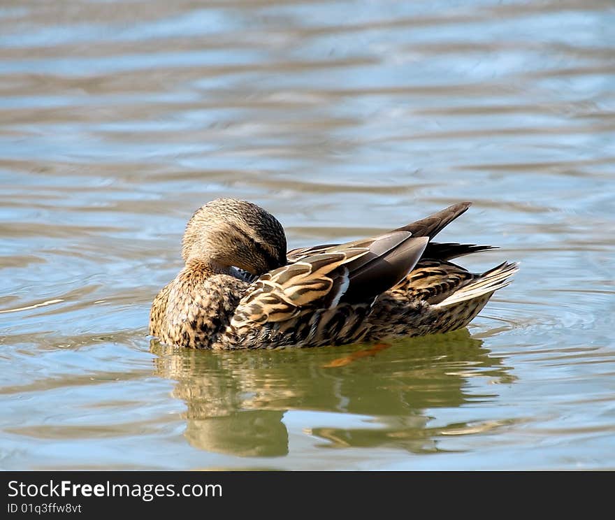
[[[286,235],[282,224],[256,204],[217,198],[188,221],[182,257],[186,263],[198,261],[223,271],[235,266],[261,275],[286,265]]]

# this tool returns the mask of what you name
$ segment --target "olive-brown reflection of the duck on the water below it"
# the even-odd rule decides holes
[[[188,442],[237,456],[288,454],[283,419],[296,410],[335,414],[305,417],[317,424],[303,425],[303,433],[326,441],[324,447],[436,452],[439,435],[475,427],[430,427],[435,409],[496,397],[466,391],[471,377],[512,381],[467,329],[398,340],[367,356],[365,345],[211,352],[152,340],[151,348],[157,375],[178,382],[173,396],[187,405]]]

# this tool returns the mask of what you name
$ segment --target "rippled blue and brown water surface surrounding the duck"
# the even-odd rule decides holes
[[[614,469],[614,24],[598,0],[4,1],[0,468]],[[442,240],[521,270],[468,330],[369,356],[159,345],[150,303],[217,196],[290,247],[470,200]]]

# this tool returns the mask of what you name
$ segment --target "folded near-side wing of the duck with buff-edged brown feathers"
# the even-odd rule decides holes
[[[231,326],[284,322],[340,302],[371,303],[410,272],[428,238],[392,231],[334,245],[262,275],[236,309]]]

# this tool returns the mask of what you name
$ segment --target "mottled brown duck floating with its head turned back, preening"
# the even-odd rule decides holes
[[[382,342],[463,328],[518,263],[471,273],[451,260],[495,249],[433,238],[470,202],[386,233],[287,251],[282,224],[249,201],[217,198],[189,219],[184,267],[154,298],[150,334],[192,349]]]

